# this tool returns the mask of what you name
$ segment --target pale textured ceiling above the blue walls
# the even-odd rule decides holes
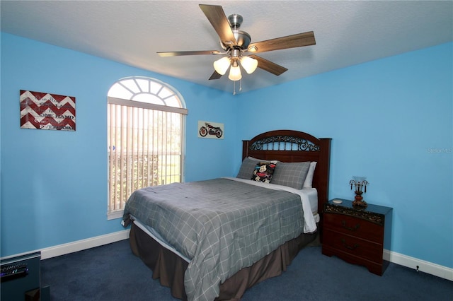
[[[243,72],[242,93],[453,40],[453,1],[2,0],[1,31],[231,92],[208,81],[219,55],[156,54],[222,50],[198,4],[239,13],[252,42],[314,31],[316,45],[260,53],[289,70]]]

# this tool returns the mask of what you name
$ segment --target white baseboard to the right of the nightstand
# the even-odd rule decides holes
[[[423,273],[453,281],[453,268],[447,268],[446,266],[440,266],[439,264],[433,264],[429,261],[391,252],[386,249],[384,249],[384,260],[399,264],[400,266],[413,268],[415,271],[418,270]]]

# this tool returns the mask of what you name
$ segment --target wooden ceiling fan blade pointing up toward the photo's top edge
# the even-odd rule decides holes
[[[238,45],[222,6],[200,4],[200,8],[203,13],[205,13],[207,20],[210,21],[214,30],[217,32],[217,35],[219,35],[220,40],[225,45],[229,45],[231,43],[234,46]]]

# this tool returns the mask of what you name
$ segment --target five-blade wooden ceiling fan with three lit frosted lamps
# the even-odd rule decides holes
[[[280,76],[280,74],[288,69],[275,64],[272,61],[258,57],[255,53],[316,44],[313,31],[251,43],[250,35],[245,31],[239,30],[243,20],[241,15],[233,14],[226,18],[222,6],[217,5],[200,4],[200,8],[217,32],[217,35],[219,35],[220,46],[224,49],[224,52],[219,52],[217,50],[202,50],[157,52],[157,54],[161,57],[197,54],[227,54],[226,57],[214,61],[214,73],[212,73],[210,80],[221,78],[222,75],[230,69],[229,79],[231,81],[239,81],[242,78],[241,67],[247,73],[253,73],[258,67],[273,73],[276,76]],[[251,54],[247,56],[244,55],[245,52],[251,52]]]

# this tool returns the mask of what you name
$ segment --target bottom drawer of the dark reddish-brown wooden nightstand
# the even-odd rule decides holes
[[[333,247],[340,252],[352,254],[362,259],[368,259],[369,261],[382,264],[382,244],[345,235],[328,228],[324,229],[323,240],[324,244]],[[338,256],[340,256],[340,253],[338,253]]]

